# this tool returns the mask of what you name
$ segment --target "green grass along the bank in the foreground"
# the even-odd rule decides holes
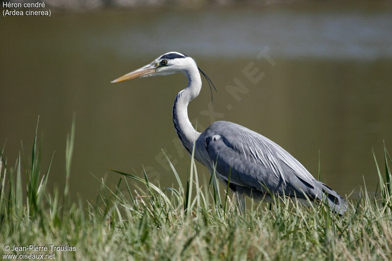
[[[66,187],[48,191],[49,163],[41,162],[35,135],[31,161],[22,152],[11,167],[1,154],[0,254],[54,252],[56,260],[389,260],[392,256],[391,157],[375,159],[379,200],[366,186],[343,216],[323,204],[298,206],[247,199],[239,213],[215,175],[206,184],[192,158],[186,186],[160,188],[115,170],[118,185],[97,178],[96,202],[70,202],[73,133],[67,139]],[[375,173],[376,173],[375,171]],[[113,175],[117,175],[113,173]],[[376,177],[377,174],[375,174]],[[25,176],[25,184],[22,182]],[[95,177],[92,176],[92,182]],[[135,187],[135,185],[137,187]],[[136,188],[136,189],[135,189]],[[4,245],[69,245],[75,251],[4,251]]]

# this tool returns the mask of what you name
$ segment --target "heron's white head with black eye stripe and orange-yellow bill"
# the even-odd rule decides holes
[[[146,66],[143,66],[142,68],[139,68],[135,71],[131,71],[113,80],[112,83],[122,82],[137,77],[168,75],[176,72],[186,72],[190,69],[196,69],[197,71],[197,65],[194,59],[180,52],[168,52],[159,56]]]

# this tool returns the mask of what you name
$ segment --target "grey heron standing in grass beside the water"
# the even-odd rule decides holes
[[[175,131],[188,153],[192,154],[195,144],[195,159],[211,173],[215,171],[226,185],[229,183],[234,193],[255,199],[274,194],[318,200],[328,202],[339,214],[347,210],[342,196],[316,180],[290,153],[261,134],[228,121],[216,121],[203,132],[197,132],[188,118],[187,108],[201,90],[199,71],[210,84],[211,80],[193,58],[168,52],[112,83],[177,72],[185,74],[188,86],[177,94],[172,109]]]

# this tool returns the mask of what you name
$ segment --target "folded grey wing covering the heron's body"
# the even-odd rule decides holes
[[[263,192],[308,194],[313,176],[293,156],[266,137],[241,125],[218,121],[203,132],[217,172],[230,183]]]

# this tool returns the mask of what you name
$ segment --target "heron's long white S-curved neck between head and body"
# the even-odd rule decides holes
[[[183,72],[188,77],[188,86],[175,97],[173,104],[173,123],[178,138],[187,151],[192,154],[194,142],[200,136],[200,133],[195,130],[191,121],[188,119],[188,104],[199,94],[201,78],[196,64]]]

